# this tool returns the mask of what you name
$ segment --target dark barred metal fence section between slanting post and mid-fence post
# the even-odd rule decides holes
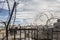
[[[10,40],[38,40],[37,28],[15,28],[10,29],[9,31],[11,37],[13,35],[13,37]]]

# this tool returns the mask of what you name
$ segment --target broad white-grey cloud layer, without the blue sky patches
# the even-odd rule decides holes
[[[9,0],[10,7],[12,8],[13,6],[13,0]],[[54,16],[59,16],[60,14],[60,3],[59,0],[20,0],[17,6],[17,14],[16,18],[18,18],[18,21],[21,19],[19,18],[30,18],[27,19],[26,21],[28,23],[34,23],[35,21],[35,16],[37,14],[40,14],[41,12],[50,11]],[[7,9],[7,4],[5,3],[4,9]],[[52,11],[51,11],[52,10]],[[45,12],[51,17],[49,12]],[[44,19],[44,18],[43,18]],[[23,19],[22,19],[23,20]],[[40,20],[37,21],[37,24],[43,24],[45,22],[41,22]]]

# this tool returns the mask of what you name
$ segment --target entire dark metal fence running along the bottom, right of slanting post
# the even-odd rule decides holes
[[[49,28],[11,28],[8,40],[60,40],[60,29]],[[6,40],[6,37],[3,39]]]

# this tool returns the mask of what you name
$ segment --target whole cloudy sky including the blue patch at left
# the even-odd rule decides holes
[[[5,0],[0,0],[0,20],[7,21],[8,6]],[[10,9],[13,7],[14,0],[8,0]],[[60,0],[15,0],[17,13],[15,24],[45,24],[48,18],[53,16],[60,17]],[[40,15],[44,15],[41,16]],[[47,16],[46,16],[46,15]]]

